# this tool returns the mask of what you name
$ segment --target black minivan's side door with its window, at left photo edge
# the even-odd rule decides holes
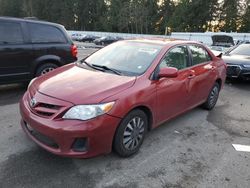
[[[27,43],[24,25],[15,21],[0,21],[0,83],[29,79],[28,63],[32,45]]]

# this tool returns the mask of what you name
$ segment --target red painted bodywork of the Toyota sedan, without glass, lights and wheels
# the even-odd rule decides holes
[[[139,77],[89,71],[71,64],[37,78],[20,101],[24,131],[37,144],[54,154],[93,157],[112,150],[116,128],[121,119],[134,108],[147,108],[152,115],[151,128],[155,128],[166,120],[204,103],[216,81],[220,81],[223,87],[226,65],[208,49],[212,61],[180,70],[175,78],[152,80],[156,67],[171,47],[198,43],[158,40],[141,42],[164,43],[165,46],[148,70]],[[32,97],[37,100],[37,106],[30,106]],[[115,105],[108,114],[92,120],[62,118],[74,105],[112,101],[115,101]],[[45,113],[48,106],[52,109]],[[38,141],[27,130],[24,122],[53,139],[59,148],[54,149]],[[87,151],[81,153],[71,149],[76,138],[87,138]]]

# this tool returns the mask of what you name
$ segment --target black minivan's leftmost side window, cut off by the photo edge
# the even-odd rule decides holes
[[[0,44],[22,44],[24,38],[20,23],[0,22]]]

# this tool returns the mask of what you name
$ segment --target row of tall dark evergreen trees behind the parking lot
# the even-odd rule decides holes
[[[250,32],[250,0],[0,0],[0,15],[37,17],[71,30]]]

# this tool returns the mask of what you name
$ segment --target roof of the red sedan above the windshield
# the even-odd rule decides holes
[[[197,41],[189,41],[183,39],[174,39],[174,38],[136,38],[136,39],[127,39],[125,41],[134,41],[134,42],[141,42],[141,43],[150,43],[150,44],[158,44],[158,45],[178,45],[178,44],[201,44]]]

